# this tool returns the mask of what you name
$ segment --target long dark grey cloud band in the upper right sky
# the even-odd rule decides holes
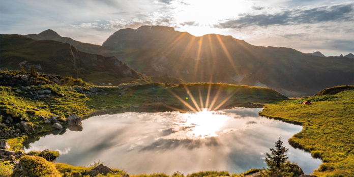
[[[245,14],[239,19],[216,24],[220,28],[270,26],[289,24],[313,24],[328,21],[354,21],[354,4],[323,6],[309,10],[290,9],[275,14]]]

